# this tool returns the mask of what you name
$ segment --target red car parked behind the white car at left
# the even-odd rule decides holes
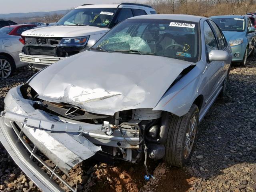
[[[16,35],[21,36],[22,32],[32,29],[36,27],[36,25],[31,24],[18,24],[18,25],[10,25],[0,28],[0,32],[9,34],[9,35]],[[25,41],[25,37],[21,36],[22,39]]]

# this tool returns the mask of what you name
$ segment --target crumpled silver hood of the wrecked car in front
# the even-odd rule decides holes
[[[85,51],[52,64],[29,85],[38,98],[97,114],[154,108],[190,62],[161,56]]]

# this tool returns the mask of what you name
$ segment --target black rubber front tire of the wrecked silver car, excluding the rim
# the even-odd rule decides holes
[[[189,128],[190,120],[195,116],[195,133],[194,140],[191,146],[190,152],[185,156],[185,139],[187,136],[187,130]],[[167,138],[164,143],[166,148],[164,161],[168,164],[176,167],[183,167],[191,158],[194,148],[194,142],[196,140],[196,134],[199,124],[199,110],[196,104],[193,104],[184,116],[170,116],[170,124],[167,127]]]

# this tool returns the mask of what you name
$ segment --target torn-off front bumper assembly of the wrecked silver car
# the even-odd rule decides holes
[[[72,167],[101,150],[93,143],[117,146],[119,142],[120,147],[130,148],[130,152],[132,148],[139,147],[130,146],[118,130],[108,136],[102,125],[67,122],[36,110],[33,106],[38,101],[23,98],[20,87],[12,88],[4,100],[5,110],[0,113],[0,141],[16,164],[42,191],[62,191],[52,180],[55,177],[62,186],[74,192],[75,189],[61,176],[63,173],[68,175]],[[126,140],[134,145],[139,142],[139,133],[135,132],[132,130],[125,134]],[[134,134],[138,136],[133,137]],[[49,167],[38,152],[54,166]],[[48,174],[38,163],[46,168]]]

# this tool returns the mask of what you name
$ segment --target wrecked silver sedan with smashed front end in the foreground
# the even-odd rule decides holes
[[[68,175],[90,157],[132,163],[144,158],[145,167],[150,157],[182,167],[199,123],[225,94],[231,60],[230,45],[208,18],[130,18],[90,50],[12,88],[0,140],[44,192],[61,190],[36,162],[72,191],[61,172]],[[146,169],[145,178],[150,176]]]

